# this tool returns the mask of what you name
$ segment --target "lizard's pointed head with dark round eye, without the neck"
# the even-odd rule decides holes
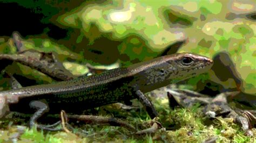
[[[210,70],[213,61],[205,56],[192,53],[177,53],[166,56],[165,61],[169,63],[172,79],[185,80]]]

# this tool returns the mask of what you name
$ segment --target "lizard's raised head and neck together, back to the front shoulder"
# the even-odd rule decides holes
[[[213,61],[192,53],[177,53],[134,64],[129,73],[136,77],[133,84],[144,92],[185,80],[210,70]]]

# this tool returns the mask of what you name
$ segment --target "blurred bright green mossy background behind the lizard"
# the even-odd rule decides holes
[[[159,56],[168,48],[175,51],[172,44],[185,40],[178,52],[211,58],[228,52],[242,79],[241,90],[256,94],[256,24],[246,15],[254,12],[255,1],[9,2],[69,28],[68,37],[58,41],[31,36],[23,41],[26,48],[55,51],[63,61],[109,65],[118,60],[127,66]],[[15,52],[13,42],[4,42],[0,51]],[[232,79],[220,81],[212,71],[209,77],[225,88],[236,86]]]

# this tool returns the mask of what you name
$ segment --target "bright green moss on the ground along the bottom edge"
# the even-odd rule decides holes
[[[79,125],[73,133],[66,132],[43,132],[35,128],[26,129],[18,142],[203,142],[210,138],[217,138],[217,142],[256,142],[256,130],[253,129],[254,137],[247,137],[239,125],[232,123],[231,119],[218,117],[210,120],[204,117],[201,107],[194,105],[191,109],[177,107],[171,110],[163,99],[154,101],[159,111],[159,121],[166,128],[166,131],[157,131],[155,134],[134,135],[122,127],[102,125]],[[100,114],[109,108],[98,108]],[[150,118],[143,109],[130,112],[116,112],[113,110],[107,113],[116,117],[123,117],[134,127],[141,130],[149,127]],[[125,116],[127,118],[125,118]],[[4,127],[3,127],[4,128]],[[16,131],[10,127],[9,130],[1,129],[0,141],[4,142]],[[6,128],[6,127],[5,127]]]

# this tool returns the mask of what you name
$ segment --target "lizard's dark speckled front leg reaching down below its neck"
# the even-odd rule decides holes
[[[142,91],[137,90],[135,92],[137,98],[139,99],[140,103],[146,108],[147,113],[149,114],[150,118],[153,119],[158,116],[158,112],[154,108],[154,105],[151,103],[149,98],[147,98]]]

